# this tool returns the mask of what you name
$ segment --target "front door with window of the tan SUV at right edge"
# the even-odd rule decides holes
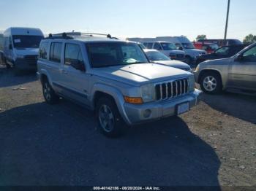
[[[230,65],[229,85],[256,90],[256,45],[242,53]]]

